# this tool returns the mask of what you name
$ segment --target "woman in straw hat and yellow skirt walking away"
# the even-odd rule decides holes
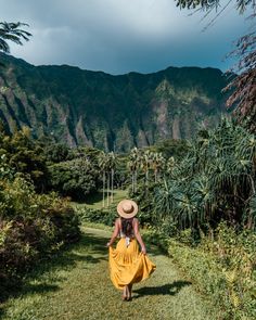
[[[123,290],[123,300],[131,299],[132,284],[146,279],[154,270],[155,265],[146,256],[144,242],[139,231],[139,221],[135,216],[138,205],[131,200],[123,200],[117,205],[120,216],[115,220],[115,229],[106,246],[110,248],[110,271],[113,284]],[[112,245],[120,236],[116,248]],[[141,253],[139,252],[139,245]]]

